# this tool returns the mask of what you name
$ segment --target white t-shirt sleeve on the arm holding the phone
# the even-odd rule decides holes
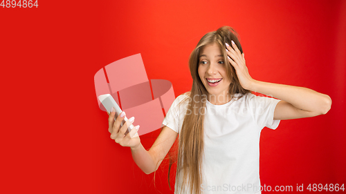
[[[181,101],[185,99],[185,97],[188,97],[187,95],[179,95],[179,97],[176,97],[174,99],[172,106],[170,107],[170,110],[168,110],[168,113],[163,119],[163,125],[171,128],[176,133],[179,133],[179,128],[182,122],[182,113],[184,112],[184,103],[182,104]],[[186,103],[185,103],[186,104]],[[185,110],[186,112],[186,110]]]

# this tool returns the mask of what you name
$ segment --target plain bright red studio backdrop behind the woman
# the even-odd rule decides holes
[[[262,186],[346,184],[346,1],[2,2],[0,193],[173,193],[167,162],[145,175],[109,138],[93,77],[140,53],[148,79],[170,81],[176,97],[192,84],[190,52],[221,26],[239,33],[254,79],[333,101],[327,115],[262,130]]]

